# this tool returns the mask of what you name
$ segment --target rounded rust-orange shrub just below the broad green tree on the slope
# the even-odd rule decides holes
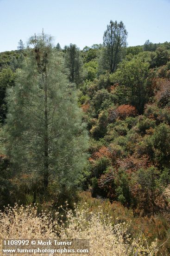
[[[116,113],[121,119],[125,119],[128,116],[136,116],[137,110],[131,105],[123,104],[116,109]]]

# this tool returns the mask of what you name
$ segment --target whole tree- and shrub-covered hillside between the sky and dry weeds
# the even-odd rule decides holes
[[[100,207],[139,255],[170,255],[170,42],[127,36],[111,20],[103,44],[0,53],[0,208]]]

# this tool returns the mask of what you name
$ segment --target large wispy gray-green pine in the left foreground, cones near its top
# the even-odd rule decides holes
[[[63,74],[63,59],[51,37],[31,37],[33,49],[15,88],[8,91],[6,148],[13,167],[43,184],[76,186],[86,162],[87,132],[76,92]]]

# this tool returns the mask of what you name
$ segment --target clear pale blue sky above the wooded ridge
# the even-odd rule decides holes
[[[34,33],[63,47],[102,43],[110,20],[122,20],[128,46],[170,41],[170,0],[0,0],[0,52],[15,50]]]

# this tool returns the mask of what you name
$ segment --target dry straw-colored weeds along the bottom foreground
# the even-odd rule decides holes
[[[98,213],[89,213],[88,209],[77,208],[74,211],[66,209],[65,212],[67,221],[63,223],[59,213],[56,213],[56,219],[53,220],[50,214],[37,215],[36,207],[8,207],[4,212],[0,212],[0,238],[89,238],[88,256],[157,255],[157,243],[148,246],[142,236],[138,240],[130,239],[127,225],[113,225],[112,218],[104,217],[100,207]]]

